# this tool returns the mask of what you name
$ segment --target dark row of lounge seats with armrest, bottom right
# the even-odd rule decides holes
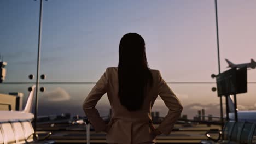
[[[223,131],[207,131],[210,140],[201,143],[256,143],[256,124],[250,122],[226,122]],[[211,135],[218,134],[217,138]]]

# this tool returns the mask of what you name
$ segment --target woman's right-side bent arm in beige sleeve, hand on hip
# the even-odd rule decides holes
[[[162,79],[160,72],[158,74],[158,81],[158,95],[160,95],[162,100],[164,100],[164,103],[168,107],[169,111],[164,120],[158,126],[157,130],[159,133],[168,135],[172,131],[178,118],[181,116],[183,107],[171,88]]]

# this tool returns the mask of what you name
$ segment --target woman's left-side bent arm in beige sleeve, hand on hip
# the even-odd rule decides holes
[[[102,95],[107,92],[108,88],[108,68],[106,72],[101,76],[100,80],[96,83],[94,88],[88,94],[83,103],[83,110],[90,120],[90,123],[95,128],[96,132],[104,131],[106,129],[106,124],[100,117],[98,110],[95,108],[97,102],[101,99]]]

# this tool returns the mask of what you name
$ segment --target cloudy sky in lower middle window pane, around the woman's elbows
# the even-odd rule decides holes
[[[61,115],[62,113],[70,113],[72,116],[84,116],[82,104],[94,85],[95,84],[41,84],[40,87],[45,87],[46,91],[39,92],[39,116]],[[219,116],[219,104],[211,104],[208,103],[209,101],[206,103],[207,99],[210,98],[218,101],[218,97],[211,91],[211,85],[172,84],[170,87],[181,100],[184,106],[183,113],[188,115],[188,118],[192,119],[197,114],[197,111],[201,109],[205,109],[205,115],[211,114],[213,116]],[[184,89],[184,87],[186,87],[186,89]],[[205,91],[201,91],[201,89],[205,89]],[[101,100],[97,103],[96,108],[98,108],[101,116],[109,115],[110,105],[106,94],[103,95]],[[158,97],[152,111],[158,111],[159,116],[164,117],[168,109],[164,101]]]

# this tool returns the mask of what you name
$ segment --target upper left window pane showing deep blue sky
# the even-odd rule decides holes
[[[0,2],[0,55],[7,62],[4,82],[35,82],[39,1]]]

